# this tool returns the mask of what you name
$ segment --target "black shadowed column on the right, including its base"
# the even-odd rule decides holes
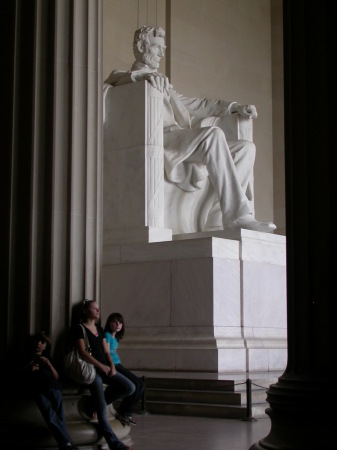
[[[251,450],[335,442],[333,21],[327,1],[284,1],[288,364],[268,390],[270,434]]]

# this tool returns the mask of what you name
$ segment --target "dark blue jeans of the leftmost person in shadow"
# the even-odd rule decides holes
[[[62,392],[50,388],[46,393],[37,394],[35,400],[57,444],[60,448],[65,447],[71,442],[71,437],[66,429]]]

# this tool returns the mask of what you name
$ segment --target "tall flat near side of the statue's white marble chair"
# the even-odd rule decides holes
[[[148,83],[105,86],[104,105],[104,242],[171,240],[164,227],[162,95]]]

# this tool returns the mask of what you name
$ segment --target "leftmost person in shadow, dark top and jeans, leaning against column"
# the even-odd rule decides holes
[[[51,340],[41,331],[32,338],[24,372],[35,401],[53,434],[59,449],[75,449],[66,428],[59,375],[49,359]]]

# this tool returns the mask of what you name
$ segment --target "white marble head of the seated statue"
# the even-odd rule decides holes
[[[158,69],[160,59],[165,54],[165,31],[161,27],[141,27],[136,30],[133,53],[136,61]]]

